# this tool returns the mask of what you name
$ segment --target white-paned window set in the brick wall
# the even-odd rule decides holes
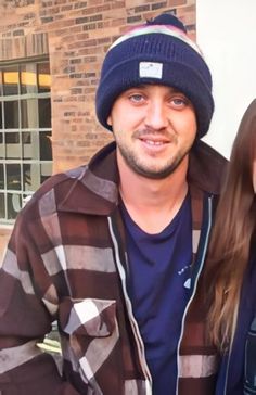
[[[0,64],[0,225],[52,174],[49,62]]]

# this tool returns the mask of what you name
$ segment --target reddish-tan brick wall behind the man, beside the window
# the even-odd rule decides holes
[[[196,0],[1,0],[0,62],[49,55],[53,169],[81,163],[112,135],[97,122],[94,92],[104,53],[133,24],[163,11],[195,35]],[[0,234],[2,245],[8,231]]]

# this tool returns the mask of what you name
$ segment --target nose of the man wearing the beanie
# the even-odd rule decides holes
[[[161,130],[166,128],[168,125],[167,109],[162,102],[155,101],[150,103],[146,109],[145,126]]]

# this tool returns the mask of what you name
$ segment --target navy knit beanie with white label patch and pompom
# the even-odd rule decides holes
[[[107,117],[118,95],[143,84],[178,89],[192,102],[197,137],[209,128],[214,112],[212,76],[182,22],[162,14],[119,37],[108,49],[97,91],[97,115],[108,130]]]

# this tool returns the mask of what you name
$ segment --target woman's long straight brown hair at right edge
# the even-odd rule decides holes
[[[233,142],[208,250],[205,278],[210,296],[209,334],[221,352],[233,339],[243,277],[255,235],[255,158],[256,100],[246,110]]]

